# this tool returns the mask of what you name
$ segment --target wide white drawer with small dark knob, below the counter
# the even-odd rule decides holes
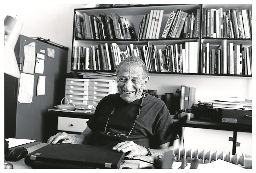
[[[87,127],[87,121],[89,119],[71,118],[71,117],[58,117],[58,130],[83,132]]]

